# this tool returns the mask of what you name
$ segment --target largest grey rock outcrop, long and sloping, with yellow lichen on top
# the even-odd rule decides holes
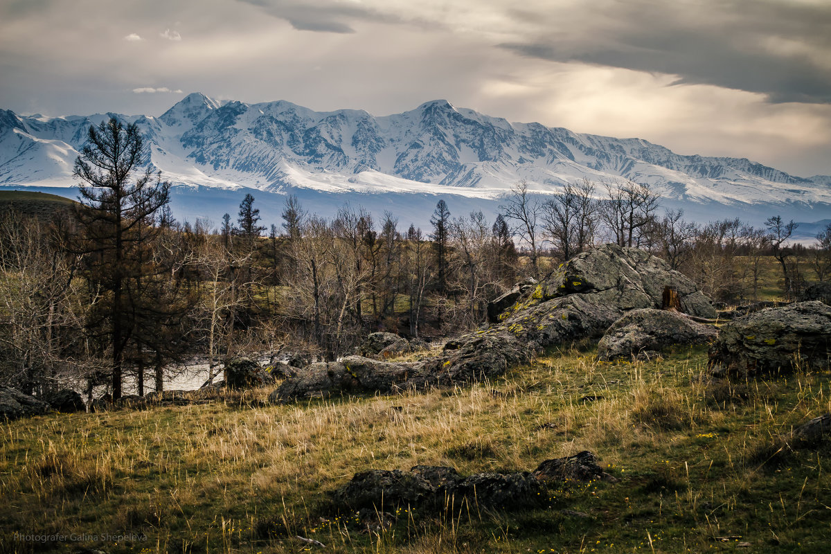
[[[437,356],[384,365],[373,360],[312,364],[288,378],[270,399],[284,402],[337,393],[389,392],[470,383],[503,375],[551,346],[601,336],[626,311],[661,307],[672,287],[693,316],[715,309],[695,283],[648,252],[607,244],[583,252],[528,290],[496,325],[452,341]]]

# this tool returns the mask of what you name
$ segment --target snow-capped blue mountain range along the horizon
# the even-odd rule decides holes
[[[76,185],[71,172],[77,150],[89,126],[110,115],[47,118],[0,110],[0,186]],[[831,217],[828,176],[804,179],[748,159],[680,155],[646,140],[509,123],[447,101],[377,117],[362,110],[316,112],[286,101],[216,101],[194,93],[160,117],[117,116],[139,125],[150,145],[150,163],[164,179],[188,188],[179,192],[190,199],[195,191],[219,198],[258,189],[406,211],[435,205],[436,195],[464,199],[465,208],[498,203],[520,179],[540,194],[583,178],[598,184],[631,179],[651,185],[667,206],[681,205],[693,214],[712,215],[719,207],[733,217],[741,215],[737,209],[758,211],[760,217],[774,212],[808,212],[803,220]],[[416,198],[423,201],[414,203]],[[419,220],[426,218],[429,212]]]

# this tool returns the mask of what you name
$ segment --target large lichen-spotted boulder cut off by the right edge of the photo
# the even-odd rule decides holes
[[[713,375],[789,373],[827,369],[831,354],[831,306],[795,302],[739,317],[721,327],[710,349]]]

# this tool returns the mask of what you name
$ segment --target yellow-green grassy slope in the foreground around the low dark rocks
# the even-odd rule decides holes
[[[316,549],[294,535],[329,552],[733,552],[744,542],[736,552],[823,552],[829,449],[765,460],[779,434],[831,411],[828,375],[713,387],[700,380],[705,364],[702,349],[622,365],[568,351],[471,388],[0,424],[2,550],[34,547],[17,531],[148,537],[49,547],[66,552]],[[564,486],[548,509],[405,511],[382,532],[327,510],[327,493],[367,468],[530,470],[583,449],[620,482]]]

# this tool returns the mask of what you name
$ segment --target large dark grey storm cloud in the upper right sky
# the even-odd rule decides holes
[[[574,12],[514,10],[527,40],[500,46],[679,76],[678,83],[758,92],[771,101],[831,103],[831,2],[592,2]],[[591,13],[594,11],[595,13]],[[568,32],[575,20],[578,34]]]

